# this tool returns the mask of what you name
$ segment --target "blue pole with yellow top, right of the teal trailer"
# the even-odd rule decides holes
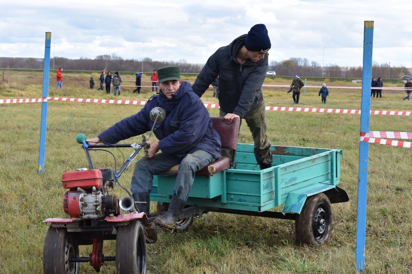
[[[374,21],[365,21],[363,36],[363,74],[361,101],[361,132],[369,133],[371,111],[372,49]],[[356,221],[356,270],[365,267],[366,197],[368,187],[369,143],[359,143],[358,216]]]

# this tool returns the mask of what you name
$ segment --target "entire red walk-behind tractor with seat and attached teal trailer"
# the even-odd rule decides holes
[[[155,107],[150,118],[164,120],[163,109]],[[349,200],[340,183],[340,149],[271,146],[272,167],[261,170],[254,155],[254,145],[238,144],[240,119],[227,124],[223,117],[212,117],[219,133],[222,156],[196,172],[189,197],[178,214],[174,230],[189,228],[193,217],[208,212],[242,214],[295,221],[296,242],[302,245],[326,243],[332,233],[333,203]],[[152,128],[153,130],[153,128]],[[150,133],[151,134],[151,133]],[[149,135],[150,138],[150,135]],[[90,145],[80,134],[90,170],[63,174],[63,208],[70,218],[51,218],[44,251],[44,273],[76,274],[80,262],[89,262],[99,272],[104,261],[116,261],[118,273],[146,272],[146,243],[157,239],[154,219],[167,211],[173,194],[178,167],[153,176],[150,200],[157,202],[157,212],[147,218],[138,212],[130,192],[120,200],[110,195],[123,171],[139,151],[147,150],[146,139],[140,144]],[[94,169],[89,150],[134,148],[119,171]],[[121,185],[120,185],[121,186]],[[282,211],[274,211],[276,206]],[[121,211],[127,211],[121,214]],[[103,241],[116,240],[116,257],[103,255]],[[89,257],[79,257],[79,245],[93,245]]]

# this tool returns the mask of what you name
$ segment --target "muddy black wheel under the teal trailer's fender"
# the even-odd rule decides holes
[[[329,198],[319,193],[307,198],[302,211],[296,215],[296,240],[300,244],[326,243],[332,233],[332,211]]]

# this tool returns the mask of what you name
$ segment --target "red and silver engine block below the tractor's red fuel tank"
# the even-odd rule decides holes
[[[99,219],[104,217],[102,206],[104,194],[96,187],[92,189],[70,189],[63,196],[64,212],[71,218]]]

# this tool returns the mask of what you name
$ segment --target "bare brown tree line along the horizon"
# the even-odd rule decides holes
[[[121,72],[151,72],[163,66],[178,66],[181,73],[199,73],[203,64],[191,64],[182,59],[179,61],[155,61],[151,58],[143,60],[123,59],[116,54],[99,55],[96,58],[82,57],[80,59],[68,59],[64,57],[54,57],[50,59],[50,69],[57,70],[62,67],[65,70],[86,70],[86,71],[121,71]],[[0,57],[0,68],[12,69],[43,69],[43,59],[35,58],[9,58]],[[289,58],[283,61],[272,61],[269,70],[275,71],[277,76],[294,76],[299,74],[305,77],[324,78],[361,78],[362,67],[340,67],[338,65],[328,65],[322,68],[315,61],[306,58]],[[372,67],[373,77],[401,78],[403,75],[410,75],[410,71],[402,67],[391,67],[388,64],[378,64],[374,62]]]

